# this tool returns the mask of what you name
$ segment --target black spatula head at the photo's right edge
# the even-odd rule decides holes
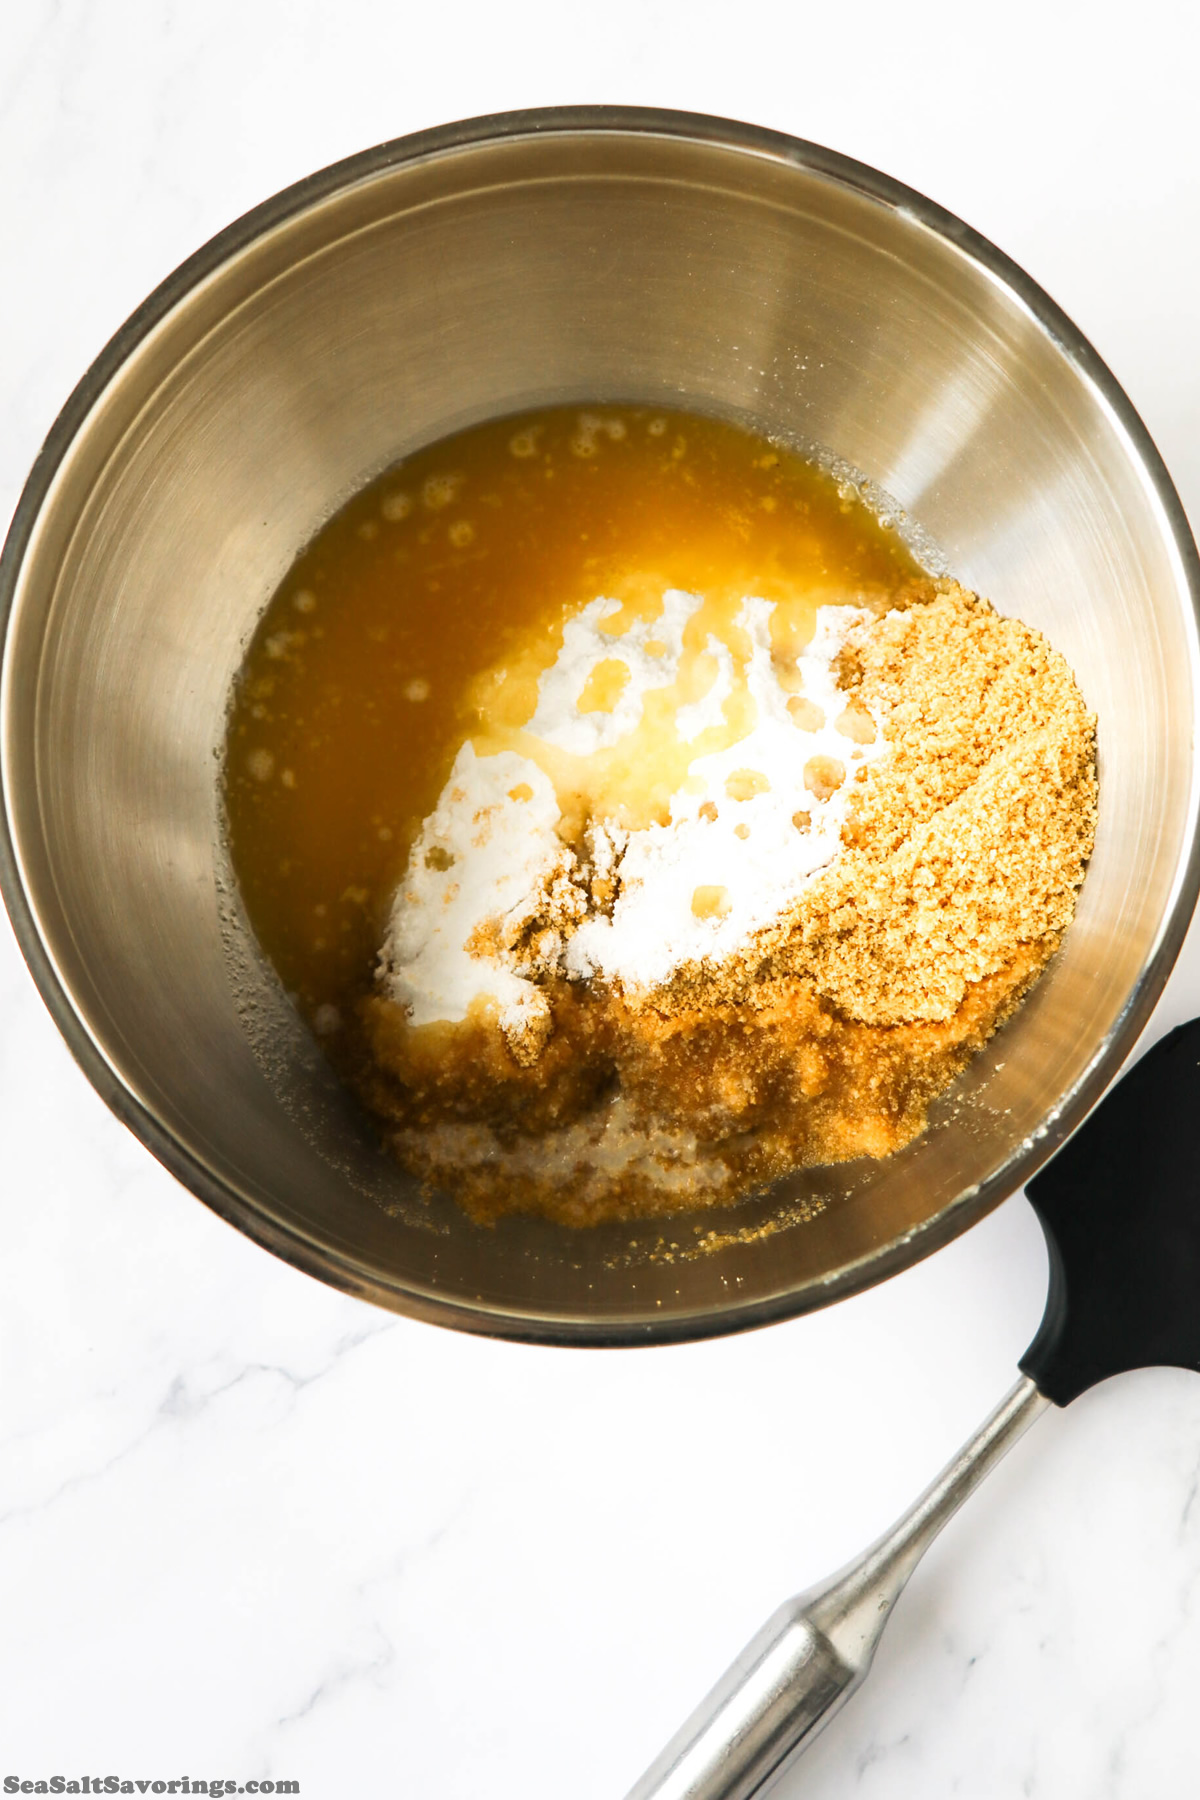
[[[1027,1186],[1051,1291],[1020,1366],[1065,1406],[1106,1375],[1200,1372],[1200,1019],[1160,1039]]]

